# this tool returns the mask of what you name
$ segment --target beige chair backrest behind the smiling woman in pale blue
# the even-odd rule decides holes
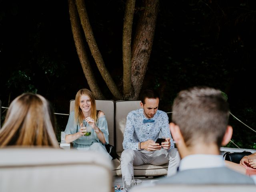
[[[113,100],[95,100],[96,109],[104,112],[108,122],[108,141],[114,146],[114,101]],[[75,100],[70,100],[69,112],[74,111]]]

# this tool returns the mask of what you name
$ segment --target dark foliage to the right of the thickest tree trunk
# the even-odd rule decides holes
[[[256,71],[255,10],[253,1],[160,1],[144,86],[160,92],[161,109],[170,112],[182,89],[211,86],[222,90],[231,112],[256,130],[255,94],[249,91]],[[255,148],[255,132],[233,117],[230,125],[236,145]]]

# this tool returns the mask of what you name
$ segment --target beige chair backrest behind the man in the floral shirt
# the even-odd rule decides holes
[[[140,109],[140,101],[116,101],[116,152],[122,152],[126,116],[132,110]]]

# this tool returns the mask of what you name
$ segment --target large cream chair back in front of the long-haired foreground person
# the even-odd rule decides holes
[[[112,164],[97,152],[2,148],[0,157],[1,192],[112,192]]]

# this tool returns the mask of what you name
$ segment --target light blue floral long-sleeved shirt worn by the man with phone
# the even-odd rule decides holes
[[[157,110],[152,120],[154,122],[143,123],[146,116],[143,109],[134,110],[128,113],[126,118],[126,126],[124,131],[124,149],[139,150],[139,142],[146,140],[154,140],[159,136],[162,131],[163,138],[171,138],[171,147],[174,147],[173,139],[171,136],[169,121],[166,112]]]

